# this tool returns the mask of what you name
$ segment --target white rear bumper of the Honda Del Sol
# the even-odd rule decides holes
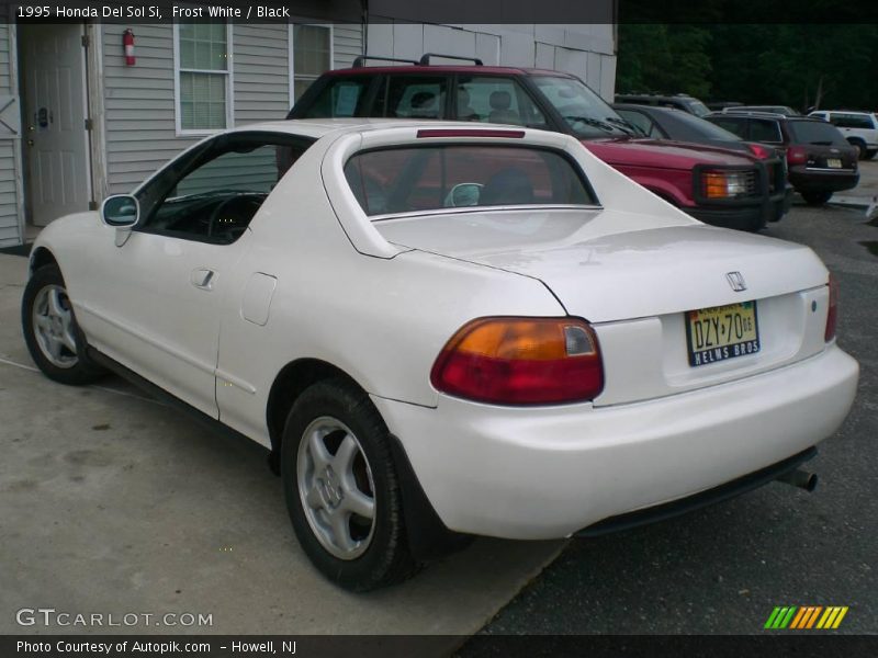
[[[373,398],[442,522],[508,538],[569,536],[801,453],[853,404],[858,365],[835,344],[753,377],[644,402],[510,408]]]

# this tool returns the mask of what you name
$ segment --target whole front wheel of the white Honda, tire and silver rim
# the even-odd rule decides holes
[[[57,265],[40,268],[24,288],[21,324],[27,351],[48,378],[80,386],[105,372],[86,354],[86,339]]]

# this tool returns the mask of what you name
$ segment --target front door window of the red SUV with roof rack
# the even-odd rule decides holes
[[[457,105],[463,121],[545,126],[545,116],[511,78],[460,76]]]

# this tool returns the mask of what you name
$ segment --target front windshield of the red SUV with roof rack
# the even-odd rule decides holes
[[[553,77],[534,77],[531,80],[577,137],[634,134],[612,107],[579,80]]]

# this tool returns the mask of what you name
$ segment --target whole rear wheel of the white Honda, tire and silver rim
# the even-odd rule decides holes
[[[283,488],[299,542],[326,578],[352,591],[417,570],[390,441],[369,397],[340,379],[305,390],[283,431]]]

